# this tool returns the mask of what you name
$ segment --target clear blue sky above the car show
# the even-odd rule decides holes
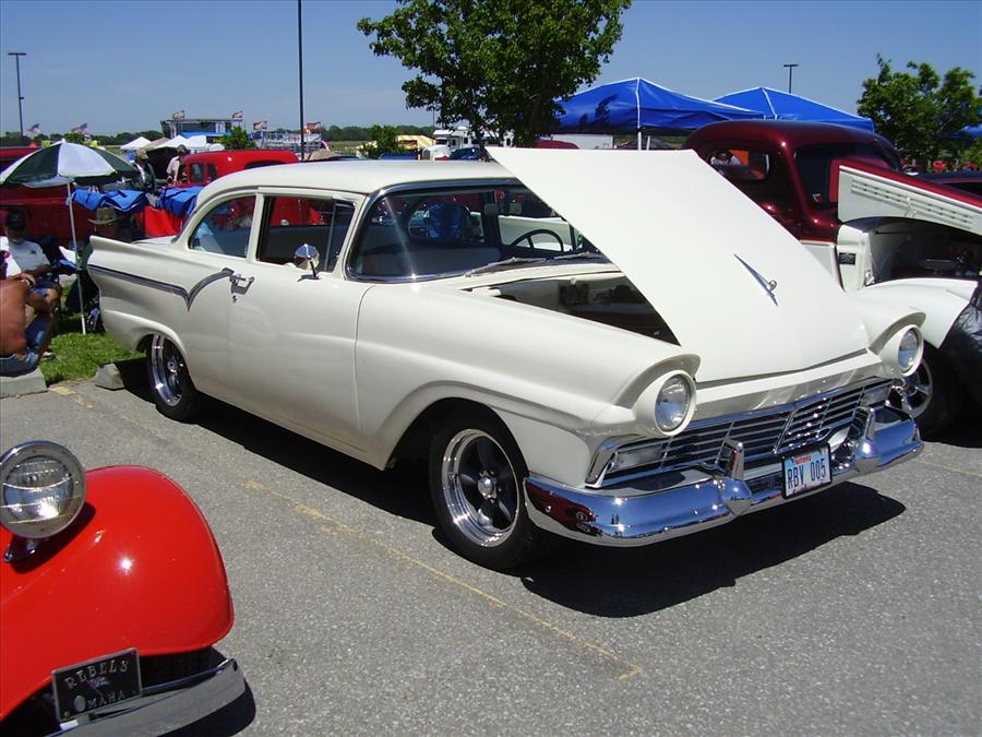
[[[428,124],[405,106],[407,70],[374,57],[355,27],[392,2],[304,0],[304,117],[326,124]],[[850,112],[876,55],[962,67],[982,84],[982,1],[662,2],[635,0],[597,83],[643,76],[697,97],[758,85]],[[17,129],[21,59],[24,126],[61,132],[87,122],[117,132],[244,110],[247,124],[296,128],[297,4],[292,0],[183,2],[0,0],[0,130]]]

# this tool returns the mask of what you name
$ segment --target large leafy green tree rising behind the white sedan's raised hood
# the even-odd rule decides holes
[[[399,0],[381,21],[362,19],[376,56],[418,73],[406,105],[466,120],[475,134],[512,131],[531,144],[555,124],[555,99],[600,72],[631,0]]]

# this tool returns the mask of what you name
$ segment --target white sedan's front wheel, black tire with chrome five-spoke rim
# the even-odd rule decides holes
[[[547,533],[525,510],[525,460],[493,414],[448,417],[430,445],[429,471],[440,528],[465,558],[506,570],[542,552]]]

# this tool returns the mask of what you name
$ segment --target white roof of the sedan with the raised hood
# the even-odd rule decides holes
[[[252,187],[332,189],[369,194],[399,185],[487,179],[514,177],[502,166],[486,162],[303,162],[299,166],[266,166],[221,177],[202,191],[199,202],[228,190]]]

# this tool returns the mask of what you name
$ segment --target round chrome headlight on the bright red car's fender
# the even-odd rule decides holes
[[[32,440],[0,459],[0,524],[38,539],[68,527],[85,501],[85,472],[71,451]]]

